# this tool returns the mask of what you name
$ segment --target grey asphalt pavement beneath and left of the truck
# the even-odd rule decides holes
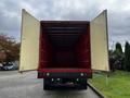
[[[37,72],[0,71],[0,98],[100,98],[92,89],[49,90],[42,88],[43,79]]]

